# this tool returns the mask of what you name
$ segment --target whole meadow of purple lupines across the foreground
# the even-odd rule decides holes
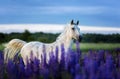
[[[52,52],[48,62],[45,51],[41,61],[31,54],[26,66],[20,57],[5,64],[0,51],[0,79],[120,79],[120,48],[114,53],[90,50],[84,54],[77,44],[76,50],[69,49],[66,54],[62,46],[60,60],[58,51],[56,47],[55,55]]]

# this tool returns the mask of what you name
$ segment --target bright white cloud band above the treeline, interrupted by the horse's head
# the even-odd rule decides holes
[[[25,29],[30,32],[47,32],[47,33],[60,33],[63,31],[65,25],[59,24],[3,24],[0,25],[0,32],[24,32]],[[79,26],[82,33],[101,33],[112,34],[120,33],[120,28],[115,27],[100,27],[100,26]]]

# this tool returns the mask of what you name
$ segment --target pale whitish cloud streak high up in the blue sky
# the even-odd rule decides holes
[[[80,14],[96,14],[101,13],[104,9],[100,6],[47,6],[38,7],[43,13],[54,13],[54,14],[64,14],[64,13],[80,13]],[[103,12],[103,11],[102,11]]]

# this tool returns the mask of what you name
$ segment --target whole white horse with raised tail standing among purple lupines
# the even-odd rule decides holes
[[[80,29],[78,27],[79,21],[77,23],[74,23],[73,20],[67,24],[64,31],[58,36],[55,42],[53,43],[42,43],[38,41],[29,42],[26,43],[22,40],[13,39],[12,43],[8,43],[8,46],[5,49],[5,60],[12,59],[18,51],[20,51],[21,57],[23,58],[24,64],[27,63],[26,59],[30,60],[31,52],[32,57],[38,58],[41,61],[41,56],[43,56],[43,46],[45,46],[46,50],[46,60],[48,61],[50,58],[50,53],[55,51],[56,47],[59,48],[58,51],[58,58],[61,57],[61,45],[64,45],[65,52],[68,51],[69,48],[71,48],[73,39],[81,41],[81,34]],[[17,44],[16,46],[12,44]],[[9,46],[10,44],[10,46]],[[21,45],[21,47],[19,47]],[[12,46],[12,47],[11,47]],[[12,48],[12,49],[11,49]],[[9,50],[8,50],[9,49]],[[10,50],[11,49],[11,50]],[[16,49],[16,50],[14,50]],[[17,50],[18,49],[18,50]],[[9,53],[9,51],[11,53]],[[12,53],[14,52],[14,53]],[[8,57],[8,58],[7,58]]]

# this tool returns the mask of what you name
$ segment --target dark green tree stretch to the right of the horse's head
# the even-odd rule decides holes
[[[82,42],[87,43],[120,43],[120,34],[83,34]]]

